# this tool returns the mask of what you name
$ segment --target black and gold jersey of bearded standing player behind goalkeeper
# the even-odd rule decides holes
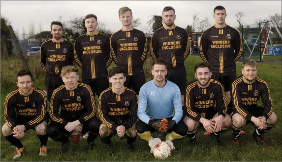
[[[151,56],[154,60],[163,58],[168,69],[184,66],[184,60],[189,54],[189,44],[184,28],[175,25],[172,30],[168,30],[163,26],[152,36]]]

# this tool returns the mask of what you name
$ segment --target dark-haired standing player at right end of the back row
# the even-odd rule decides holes
[[[201,35],[200,56],[211,65],[212,79],[224,87],[228,104],[230,84],[237,77],[235,63],[242,56],[243,44],[239,31],[225,23],[226,16],[223,6],[214,8],[215,25]],[[227,114],[231,112],[227,110]]]

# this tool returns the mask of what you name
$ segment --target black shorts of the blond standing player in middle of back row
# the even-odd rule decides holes
[[[141,87],[146,83],[144,72],[133,74],[133,75],[125,75],[126,80],[124,86],[131,89],[139,94]]]

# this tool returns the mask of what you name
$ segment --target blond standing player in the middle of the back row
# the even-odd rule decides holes
[[[147,57],[147,38],[145,34],[132,27],[132,11],[128,7],[119,9],[122,29],[111,36],[111,50],[117,67],[125,71],[125,87],[137,94],[146,83],[143,63]]]

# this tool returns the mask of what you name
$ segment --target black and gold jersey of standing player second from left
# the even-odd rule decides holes
[[[102,33],[83,34],[74,43],[75,62],[82,68],[83,79],[108,76],[107,67],[112,63],[110,38]]]

